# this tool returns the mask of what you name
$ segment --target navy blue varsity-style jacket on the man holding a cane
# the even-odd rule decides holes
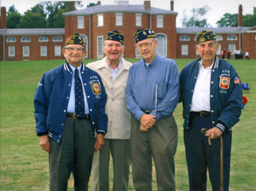
[[[183,101],[183,128],[189,129],[189,112],[201,58],[183,67],[180,73],[180,101]],[[232,130],[241,115],[241,81],[235,68],[215,57],[211,75],[210,107],[212,127]]]

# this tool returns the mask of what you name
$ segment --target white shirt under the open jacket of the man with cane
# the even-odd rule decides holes
[[[192,103],[190,112],[210,112],[210,87],[211,87],[211,74],[212,66],[206,69],[200,63],[198,76],[195,83],[194,94],[192,97]]]

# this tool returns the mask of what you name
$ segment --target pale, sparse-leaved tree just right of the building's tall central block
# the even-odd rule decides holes
[[[189,18],[185,11],[183,11],[183,23],[182,25],[185,27],[208,27],[210,26],[209,23],[207,23],[207,19],[205,18],[206,14],[212,10],[209,6],[203,6],[202,8],[192,9],[192,16]]]

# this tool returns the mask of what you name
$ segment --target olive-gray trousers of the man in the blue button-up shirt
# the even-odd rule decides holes
[[[159,119],[143,132],[140,122],[131,118],[132,179],[136,191],[152,190],[152,157],[158,191],[176,190],[174,154],[177,149],[177,124],[172,115]]]

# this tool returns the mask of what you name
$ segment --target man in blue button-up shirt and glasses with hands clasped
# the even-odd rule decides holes
[[[152,190],[153,157],[158,190],[175,190],[177,124],[172,113],[179,98],[177,64],[156,55],[151,29],[139,29],[134,39],[143,60],[130,67],[126,88],[133,184],[136,190]]]

